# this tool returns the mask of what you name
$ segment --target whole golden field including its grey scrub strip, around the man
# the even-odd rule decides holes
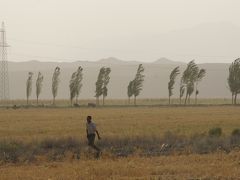
[[[237,128],[231,106],[0,109],[0,179],[240,179]]]

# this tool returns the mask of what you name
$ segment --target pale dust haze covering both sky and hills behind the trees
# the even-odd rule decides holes
[[[112,68],[108,98],[126,98],[139,63],[146,74],[140,98],[167,97],[172,68],[183,71],[193,59],[207,70],[200,97],[229,98],[228,67],[240,47],[239,7],[236,0],[2,0],[11,98],[25,98],[29,71],[34,78],[43,73],[41,98],[51,98],[56,66],[62,70],[58,98],[69,98],[70,76],[78,66],[84,68],[80,98],[93,98],[104,65]]]

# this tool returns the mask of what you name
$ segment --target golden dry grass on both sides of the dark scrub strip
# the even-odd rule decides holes
[[[102,139],[162,137],[166,131],[191,136],[221,127],[223,136],[240,128],[240,107],[107,107],[0,109],[0,139],[32,142],[74,137],[85,142],[92,115]],[[101,145],[101,141],[97,142]],[[86,147],[87,148],[87,147]],[[0,179],[238,179],[240,152],[101,159],[66,156],[33,163],[1,163]]]

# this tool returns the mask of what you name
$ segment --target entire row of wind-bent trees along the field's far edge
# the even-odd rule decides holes
[[[133,97],[133,104],[136,105],[136,99],[143,90],[144,82],[144,67],[142,64],[139,64],[137,72],[133,80],[131,80],[127,86],[127,97],[128,104],[131,104],[131,97]],[[97,81],[95,83],[95,98],[96,105],[100,105],[100,97],[102,96],[102,105],[105,105],[105,98],[108,95],[108,83],[110,81],[110,67],[101,67],[98,73]],[[171,97],[173,96],[174,85],[176,83],[177,76],[180,75],[180,67],[175,67],[169,76],[169,82],[167,85],[168,88],[168,103],[171,104]],[[179,87],[179,104],[182,104],[183,97],[184,105],[190,104],[190,99],[193,93],[195,94],[195,104],[197,104],[199,89],[198,84],[206,76],[206,70],[199,68],[194,60],[190,61],[187,64],[186,69],[182,72],[180,78],[180,87]],[[26,83],[26,95],[27,95],[27,104],[29,104],[29,97],[32,93],[32,78],[33,73],[28,73],[27,83]],[[72,73],[72,76],[69,81],[69,92],[70,92],[70,103],[78,104],[78,97],[81,92],[83,79],[83,68],[79,66],[75,72]],[[56,67],[52,76],[52,96],[53,96],[53,105],[55,105],[55,99],[58,93],[58,86],[60,82],[60,68]],[[237,95],[240,93],[240,58],[236,59],[229,67],[229,76],[227,78],[229,90],[232,93],[232,104],[237,104]],[[42,91],[43,85],[43,75],[41,72],[38,73],[36,80],[36,98],[37,104],[39,96]],[[75,102],[74,102],[75,99]]]

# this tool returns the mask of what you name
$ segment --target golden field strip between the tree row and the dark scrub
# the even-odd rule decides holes
[[[85,138],[92,115],[102,138],[161,136],[166,131],[191,135],[221,127],[225,134],[240,127],[239,107],[128,107],[0,109],[0,137],[24,141],[73,136]]]

